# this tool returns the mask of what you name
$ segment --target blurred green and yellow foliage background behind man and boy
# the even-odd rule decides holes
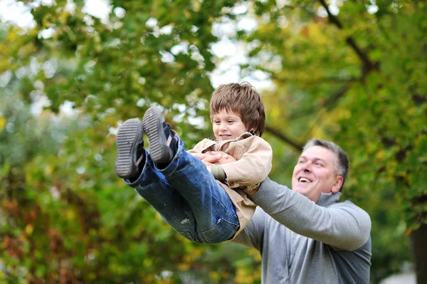
[[[258,251],[187,241],[114,169],[123,121],[161,105],[191,148],[214,88],[243,80],[270,178],[290,186],[312,137],[339,144],[371,283],[426,283],[426,35],[421,0],[0,0],[0,283],[260,283]]]

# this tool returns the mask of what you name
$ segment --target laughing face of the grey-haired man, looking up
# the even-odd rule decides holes
[[[317,201],[322,192],[336,193],[342,185],[342,177],[334,169],[335,154],[320,146],[302,152],[292,174],[292,190]]]

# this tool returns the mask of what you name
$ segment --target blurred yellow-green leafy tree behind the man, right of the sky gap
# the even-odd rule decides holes
[[[255,46],[243,73],[261,70],[277,86],[268,130],[292,148],[322,137],[346,149],[344,194],[373,221],[372,280],[410,260],[408,234],[418,281],[426,279],[426,5],[273,2],[255,1],[260,25],[240,35]]]

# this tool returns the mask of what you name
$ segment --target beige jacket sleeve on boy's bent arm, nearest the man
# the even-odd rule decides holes
[[[227,183],[231,188],[252,186],[268,177],[273,159],[270,144],[258,137],[258,141],[243,154],[241,159],[229,164],[221,164],[226,172]]]

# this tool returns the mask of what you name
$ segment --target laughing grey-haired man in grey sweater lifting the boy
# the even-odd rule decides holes
[[[197,157],[206,165],[233,162],[218,153]],[[292,191],[265,179],[251,192],[259,207],[233,241],[260,251],[262,283],[369,283],[371,219],[338,202],[348,169],[337,144],[313,139],[295,165]]]

